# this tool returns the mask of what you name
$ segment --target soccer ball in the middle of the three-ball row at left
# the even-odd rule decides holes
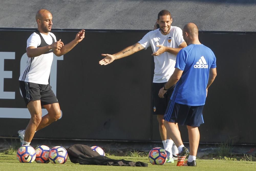
[[[49,152],[50,148],[46,145],[39,145],[35,151],[36,151],[36,162],[37,163],[49,163]]]

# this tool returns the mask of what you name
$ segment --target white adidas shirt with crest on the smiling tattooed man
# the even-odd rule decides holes
[[[145,49],[151,46],[153,53],[155,53],[159,49],[156,45],[178,48],[182,42],[185,42],[182,36],[182,29],[171,26],[169,34],[163,35],[160,29],[156,29],[148,32],[138,43]],[[175,70],[176,56],[169,52],[154,56],[155,74],[153,82],[162,83],[169,80]]]

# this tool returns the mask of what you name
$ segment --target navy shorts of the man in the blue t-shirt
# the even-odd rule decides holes
[[[188,106],[170,100],[164,114],[164,120],[181,125],[199,127],[204,123],[203,108],[204,105]]]

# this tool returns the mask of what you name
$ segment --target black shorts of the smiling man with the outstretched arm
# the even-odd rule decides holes
[[[153,93],[153,115],[164,115],[168,102],[173,94],[175,85],[169,88],[164,95],[164,98],[158,96],[159,90],[164,87],[165,82],[155,83],[153,82],[152,93]]]

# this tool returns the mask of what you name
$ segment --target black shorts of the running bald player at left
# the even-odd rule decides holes
[[[21,90],[26,106],[30,101],[36,100],[41,101],[41,106],[46,104],[59,103],[49,84],[44,85],[19,81],[19,88]]]

